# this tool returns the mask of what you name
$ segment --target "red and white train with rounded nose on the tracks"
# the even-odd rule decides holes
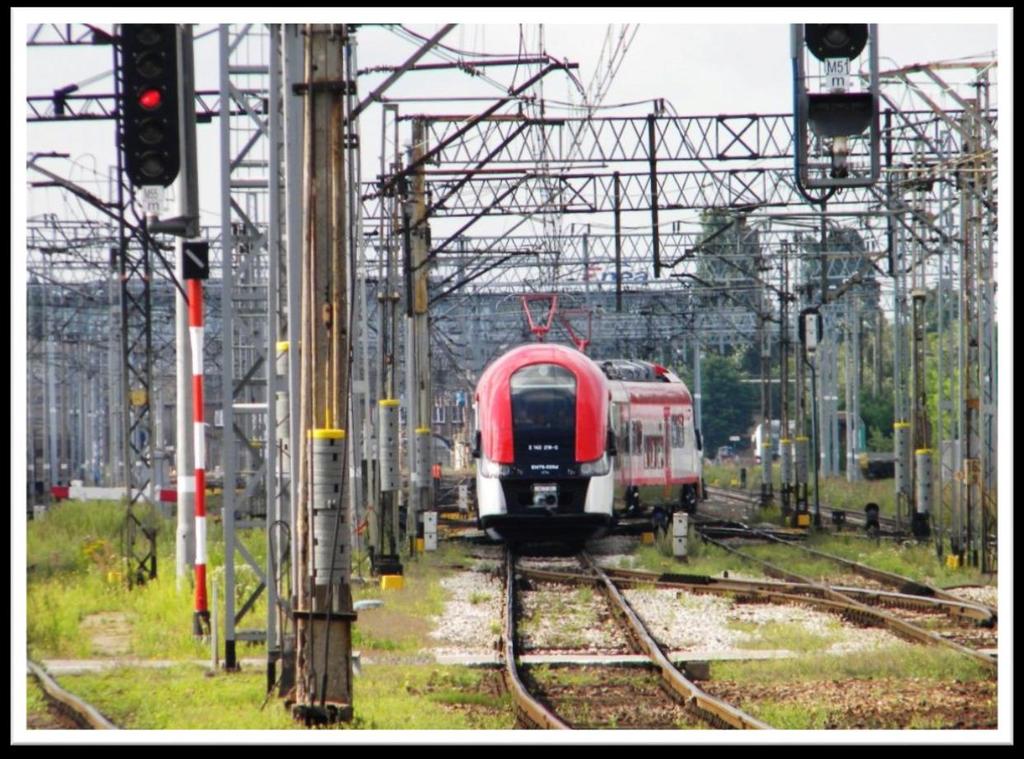
[[[474,409],[478,514],[493,538],[585,540],[642,506],[696,509],[693,400],[664,367],[521,345],[484,370]]]

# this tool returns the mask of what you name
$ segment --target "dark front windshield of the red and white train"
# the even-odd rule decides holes
[[[516,461],[552,474],[575,459],[575,377],[554,364],[512,375],[512,439]]]

